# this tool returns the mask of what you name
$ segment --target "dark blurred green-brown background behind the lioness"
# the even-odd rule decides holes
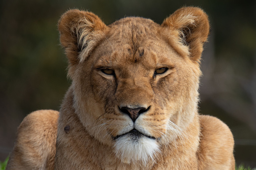
[[[238,0],[1,0],[0,161],[23,118],[60,108],[70,85],[57,22],[68,9],[89,10],[107,25],[127,16],[163,19],[183,6],[209,15],[202,57],[200,113],[220,118],[235,138],[236,163],[256,167],[256,3]]]

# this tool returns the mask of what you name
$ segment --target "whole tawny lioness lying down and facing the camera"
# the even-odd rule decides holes
[[[70,10],[58,29],[72,84],[59,113],[23,120],[8,169],[234,169],[229,128],[197,110],[201,9],[109,26]]]

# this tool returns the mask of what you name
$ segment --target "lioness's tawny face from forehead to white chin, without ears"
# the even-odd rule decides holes
[[[92,116],[94,123],[85,121],[89,129],[95,128],[92,135],[104,143],[109,140],[126,161],[146,160],[161,142],[169,141],[167,133],[182,130],[177,116],[187,102],[184,98],[196,100],[187,88],[195,86],[199,75],[191,74],[192,62],[177,54],[150,20],[116,24],[79,67],[76,85],[81,91],[75,93],[81,95],[78,102],[89,100],[91,109],[82,114]],[[83,86],[84,80],[90,85]],[[87,99],[88,94],[92,98]]]

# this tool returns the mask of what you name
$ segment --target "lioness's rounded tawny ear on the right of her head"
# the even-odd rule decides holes
[[[208,16],[203,10],[194,7],[181,8],[166,18],[161,26],[167,29],[169,43],[178,53],[200,62],[203,44],[210,28]],[[175,45],[177,39],[180,43]]]

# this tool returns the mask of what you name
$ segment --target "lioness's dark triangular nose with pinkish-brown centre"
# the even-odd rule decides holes
[[[124,114],[130,116],[133,122],[139,117],[140,114],[147,112],[150,109],[145,107],[138,107],[138,108],[129,108],[129,107],[119,107],[120,111]]]

